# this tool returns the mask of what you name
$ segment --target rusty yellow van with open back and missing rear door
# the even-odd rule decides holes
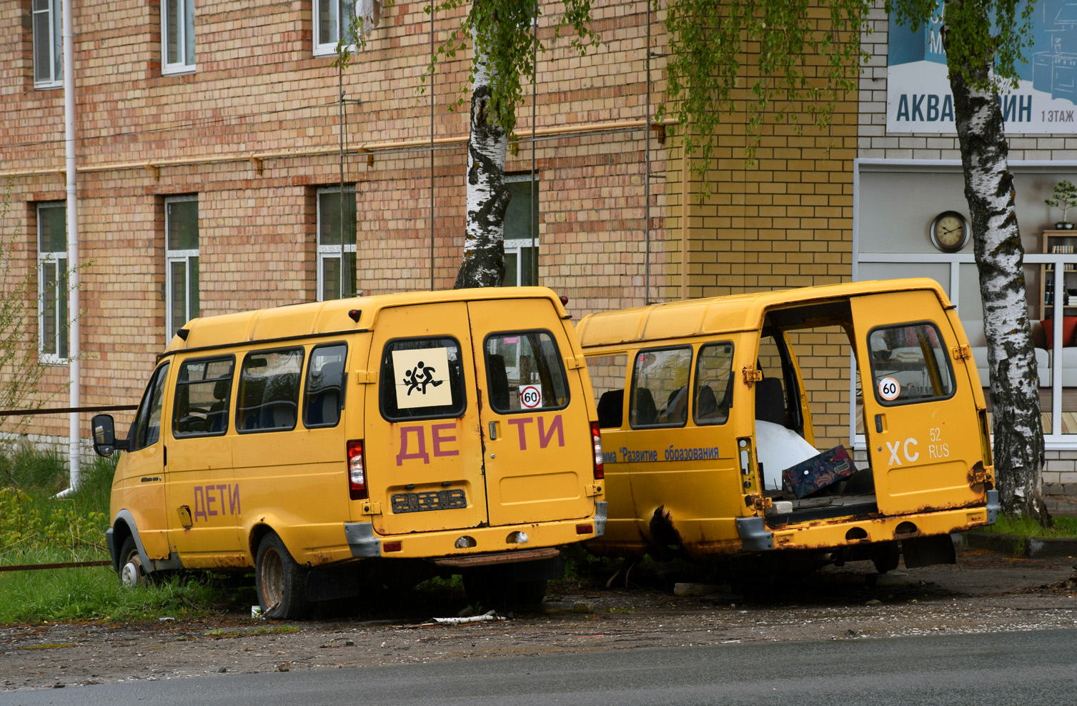
[[[576,330],[605,448],[598,553],[889,570],[899,547],[907,566],[953,562],[950,533],[994,522],[983,392],[933,280],[676,301]],[[836,447],[867,463],[852,472]],[[794,467],[817,486],[783,483]]]

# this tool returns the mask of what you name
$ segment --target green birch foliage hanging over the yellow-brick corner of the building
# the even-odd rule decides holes
[[[819,127],[829,125],[838,101],[856,88],[861,31],[871,8],[865,0],[671,0],[669,87],[658,116],[681,126],[693,169],[705,176],[718,124],[738,110],[738,88],[750,97],[745,157],[754,158],[764,116],[796,124],[803,105]],[[749,48],[757,50],[752,66]],[[754,54],[755,52],[753,52]],[[777,103],[777,108],[775,108]],[[703,192],[708,192],[707,183]]]

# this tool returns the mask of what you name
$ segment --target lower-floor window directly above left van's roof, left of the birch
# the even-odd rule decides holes
[[[340,271],[341,259],[344,272]],[[352,296],[354,290],[355,185],[345,185],[344,199],[340,198],[339,186],[320,188],[318,189],[318,300],[340,299],[341,291],[344,296]]]

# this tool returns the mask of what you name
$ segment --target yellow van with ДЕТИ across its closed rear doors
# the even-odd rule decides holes
[[[534,602],[558,547],[602,534],[596,420],[543,287],[196,319],[157,356],[125,438],[94,418],[98,453],[124,452],[109,551],[131,584],[253,567],[277,618],[432,574]]]

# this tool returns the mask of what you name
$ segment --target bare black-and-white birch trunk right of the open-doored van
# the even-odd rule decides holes
[[[989,62],[976,68],[981,77],[989,70]],[[993,94],[973,88],[953,68],[950,87],[983,299],[999,504],[1003,512],[1029,516],[1047,524],[1050,514],[1041,486],[1039,383],[1029,328],[1024,249],[1017,223],[1013,176],[1007,165],[1002,110]]]

